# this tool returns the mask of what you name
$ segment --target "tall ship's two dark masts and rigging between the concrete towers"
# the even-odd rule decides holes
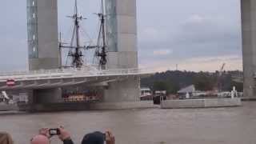
[[[68,16],[73,20],[73,33],[71,35],[71,40],[69,43],[62,42],[62,34],[59,36],[59,51],[60,51],[60,61],[64,68],[84,68],[90,67],[86,63],[86,50],[94,50],[93,66],[96,66],[99,70],[106,69],[106,56],[107,56],[107,42],[106,42],[106,14],[104,10],[104,1],[101,0],[101,9],[98,13],[95,13],[99,19],[99,30],[98,30],[98,40],[94,45],[82,45],[81,40],[81,25],[80,23],[83,18],[82,15],[78,14],[78,1],[74,1],[74,14]],[[64,58],[63,58],[63,55]]]

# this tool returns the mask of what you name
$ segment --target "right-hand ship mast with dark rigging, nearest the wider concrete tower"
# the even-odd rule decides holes
[[[98,66],[100,69],[106,69],[106,49],[107,49],[107,42],[106,42],[106,14],[104,10],[104,2],[102,0],[101,12],[97,14],[100,20],[100,28],[98,34],[98,42],[97,46],[87,46],[86,49],[96,49],[95,50],[95,57],[99,58]]]

